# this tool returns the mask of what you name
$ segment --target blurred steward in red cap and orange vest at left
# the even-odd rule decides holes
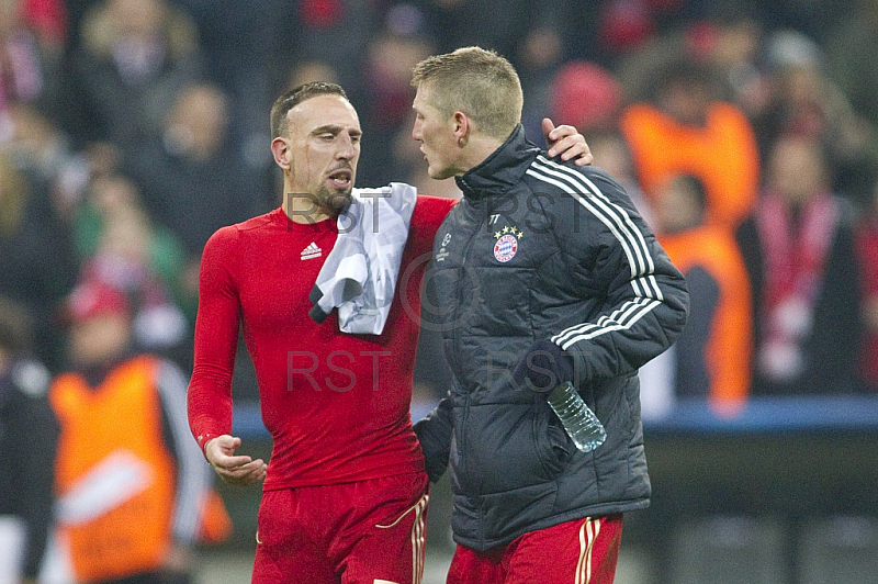
[[[64,307],[70,369],[49,388],[60,423],[53,582],[193,582],[195,546],[229,534],[189,436],[185,377],[134,351],[132,316],[102,282],[80,283]]]

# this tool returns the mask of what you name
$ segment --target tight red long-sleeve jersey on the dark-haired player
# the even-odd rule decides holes
[[[262,422],[273,438],[264,490],[417,472],[409,406],[420,282],[455,201],[418,196],[381,335],[349,335],[334,312],[309,316],[335,222],[291,222],[281,209],[217,231],[202,256],[189,420],[203,447],[232,430],[232,372],[243,326]]]

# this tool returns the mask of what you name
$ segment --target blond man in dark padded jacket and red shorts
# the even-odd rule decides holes
[[[612,582],[622,514],[650,497],[637,372],[686,323],[683,276],[609,175],[526,141],[506,59],[461,48],[413,85],[429,175],[464,194],[425,306],[454,379],[415,427],[431,479],[451,468],[448,582]],[[606,427],[592,452],[539,391],[566,381]]]

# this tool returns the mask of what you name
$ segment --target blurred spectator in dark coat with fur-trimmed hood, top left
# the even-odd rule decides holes
[[[160,135],[180,90],[205,75],[192,21],[168,0],[103,0],[80,26],[64,127],[80,146],[105,141],[123,151]]]

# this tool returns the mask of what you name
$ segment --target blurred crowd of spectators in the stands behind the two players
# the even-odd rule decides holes
[[[531,139],[575,125],[687,274],[649,407],[878,391],[878,0],[0,0],[0,296],[33,357],[69,367],[60,308],[100,282],[138,350],[189,367],[201,249],[278,205],[268,111],[292,86],[346,88],[358,184],[459,196],[426,176],[408,81],[471,44],[519,70]]]

